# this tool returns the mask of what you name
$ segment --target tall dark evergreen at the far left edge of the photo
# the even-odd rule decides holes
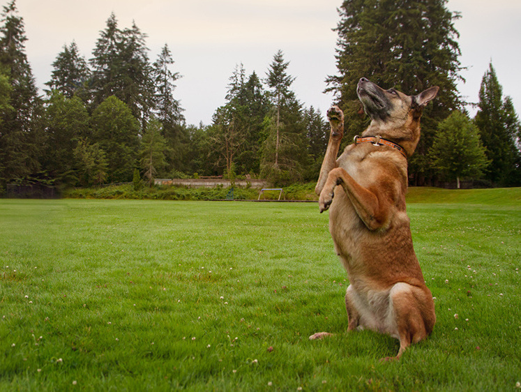
[[[2,105],[0,123],[0,187],[9,181],[23,181],[39,171],[42,137],[37,126],[41,101],[25,54],[27,38],[15,0],[3,7],[1,17],[0,70],[4,73],[3,93],[8,94],[3,100],[8,105]]]

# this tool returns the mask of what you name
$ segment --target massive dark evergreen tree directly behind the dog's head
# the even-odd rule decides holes
[[[461,70],[459,36],[454,21],[460,15],[446,9],[447,0],[345,0],[339,8],[337,68],[328,91],[334,91],[345,114],[349,142],[367,126],[356,84],[367,77],[383,88],[407,94],[439,86],[443,94],[423,112],[422,137],[409,163],[409,176],[421,184],[430,176],[425,159],[437,123],[461,107],[456,82]]]

